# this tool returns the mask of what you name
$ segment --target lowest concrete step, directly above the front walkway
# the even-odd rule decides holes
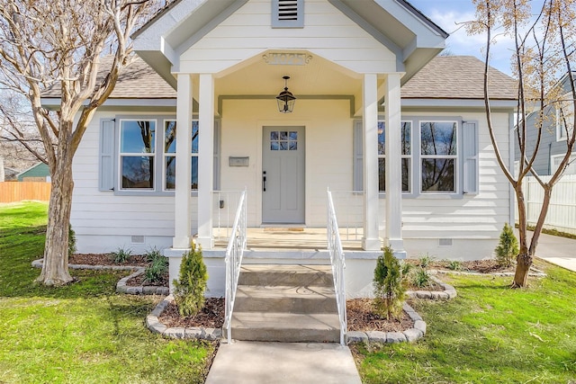
[[[231,332],[234,339],[246,341],[338,343],[340,340],[336,314],[234,312]]]

